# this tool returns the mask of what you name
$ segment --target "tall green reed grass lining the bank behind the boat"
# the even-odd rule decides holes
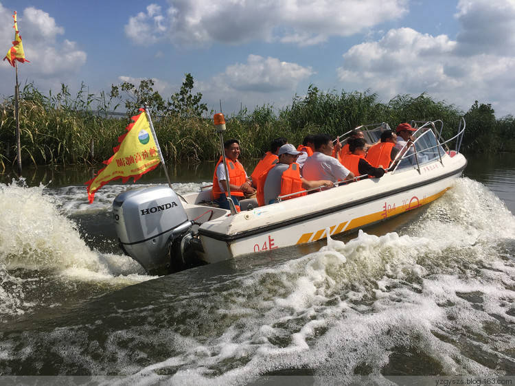
[[[114,104],[104,93],[87,93],[84,84],[73,97],[65,85],[54,95],[43,95],[33,84],[25,85],[19,102],[23,163],[67,165],[108,159],[118,144],[117,137],[124,134],[129,123],[128,117],[116,118],[109,113],[117,108]],[[3,100],[0,111],[1,171],[16,161],[14,98]],[[277,113],[273,106],[264,105],[251,113],[243,109],[238,115],[226,117],[225,138],[239,139],[242,158],[249,159],[261,157],[275,137],[299,144],[308,133],[336,136],[369,123],[387,122],[395,128],[401,122],[440,119],[445,123],[444,137],[450,137],[462,115],[468,128],[465,150],[515,151],[515,118],[496,120],[487,104],[476,103],[464,113],[426,94],[398,95],[384,103],[369,91],[321,92],[312,85],[306,96],[295,95],[291,106]],[[218,158],[219,140],[211,119],[170,114],[154,121],[166,159],[194,163]]]

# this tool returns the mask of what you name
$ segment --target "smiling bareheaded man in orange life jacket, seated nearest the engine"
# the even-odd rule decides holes
[[[228,139],[225,141],[224,150],[227,172],[229,172],[229,188],[231,188],[231,197],[233,198],[234,204],[239,205],[238,200],[243,198],[245,194],[253,194],[255,189],[252,188],[250,179],[247,177],[247,173],[240,161],[238,161],[238,157],[240,157],[240,142],[238,139]],[[213,175],[211,199],[218,203],[221,208],[230,209],[229,201],[227,201],[227,177],[222,156],[218,159]]]

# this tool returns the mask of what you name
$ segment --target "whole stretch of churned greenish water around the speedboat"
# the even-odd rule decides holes
[[[88,205],[60,172],[1,183],[0,374],[515,374],[515,157],[469,160],[442,198],[366,233],[165,277],[117,249],[109,208],[130,185]]]

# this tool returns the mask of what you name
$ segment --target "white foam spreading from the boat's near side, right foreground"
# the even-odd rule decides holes
[[[514,321],[507,314],[515,301],[514,260],[496,249],[501,240],[514,240],[514,225],[493,194],[462,179],[403,236],[360,231],[346,244],[329,239],[317,253],[235,280],[223,300],[214,288],[205,301],[217,304],[218,313],[247,311],[203,343],[204,354],[187,350],[138,374],[170,363],[183,363],[172,380],[187,384],[240,383],[290,367],[352,375],[365,364],[379,374],[395,350],[423,353],[444,374],[488,374],[457,336],[501,358],[499,348],[514,343],[510,334],[494,339],[485,330],[497,323],[492,315]],[[259,302],[249,304],[242,293]],[[470,293],[481,295],[481,306]],[[242,357],[250,361],[216,378],[207,370]]]

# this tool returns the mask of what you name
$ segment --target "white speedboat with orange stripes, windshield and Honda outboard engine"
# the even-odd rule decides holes
[[[183,195],[168,185],[119,194],[113,202],[119,244],[150,273],[178,271],[357,231],[431,203],[466,167],[459,152],[465,120],[448,140],[442,139],[440,120],[411,124],[417,129],[411,147],[400,150],[383,177],[345,181],[291,199],[279,196],[271,205],[242,200],[240,212],[221,209],[211,202],[209,187]],[[385,123],[358,128],[368,143],[389,130]]]

